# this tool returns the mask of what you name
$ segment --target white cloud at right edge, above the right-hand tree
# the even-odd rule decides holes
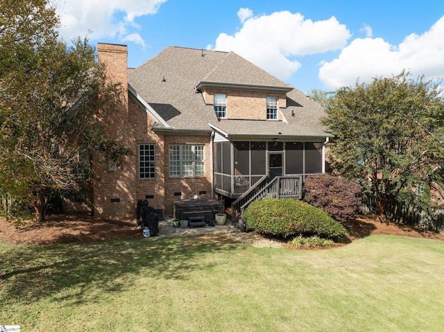
[[[373,78],[391,77],[403,69],[413,76],[444,78],[444,16],[422,35],[415,33],[393,46],[381,38],[356,39],[332,62],[324,62],[319,79],[325,88],[370,82]]]

